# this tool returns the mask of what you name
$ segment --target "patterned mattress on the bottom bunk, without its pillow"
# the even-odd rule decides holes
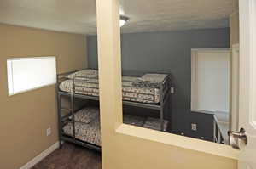
[[[101,126],[99,115],[90,123],[80,122],[78,118],[75,118],[75,138],[90,143],[101,146]],[[78,121],[77,121],[78,120]],[[160,131],[160,119],[146,118],[133,115],[124,115],[124,123],[137,126],[145,127],[153,130]],[[167,130],[168,121],[164,121],[164,131]],[[73,122],[69,121],[63,127],[62,130],[66,135],[73,137]]]

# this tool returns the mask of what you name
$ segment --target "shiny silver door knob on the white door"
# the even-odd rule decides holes
[[[230,137],[230,145],[234,149],[241,149],[240,144],[247,144],[247,134],[245,129],[241,128],[239,132],[228,132]]]

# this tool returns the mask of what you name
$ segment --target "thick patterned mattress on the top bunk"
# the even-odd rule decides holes
[[[160,102],[160,89],[156,87],[135,87],[137,77],[123,76],[123,100],[134,101],[140,103],[157,104]],[[99,96],[98,79],[86,79],[82,81],[74,81],[75,93]],[[73,93],[73,80],[66,80],[60,84],[61,91]]]

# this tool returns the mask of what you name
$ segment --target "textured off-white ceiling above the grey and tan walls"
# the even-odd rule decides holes
[[[123,32],[174,31],[229,26],[236,0],[121,0],[131,19]],[[96,0],[0,0],[0,22],[96,33]]]

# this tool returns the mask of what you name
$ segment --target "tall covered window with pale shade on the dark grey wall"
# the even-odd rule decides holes
[[[229,112],[230,49],[192,49],[191,110]]]

